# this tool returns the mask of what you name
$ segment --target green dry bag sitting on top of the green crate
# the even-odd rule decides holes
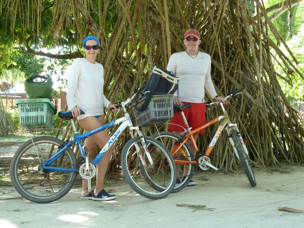
[[[53,84],[51,77],[30,74],[24,82],[26,98],[49,98],[52,101]]]

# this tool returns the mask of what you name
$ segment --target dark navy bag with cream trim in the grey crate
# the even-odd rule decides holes
[[[147,81],[146,87],[143,89],[143,92],[149,92],[145,93],[145,95],[136,101],[135,110],[143,112],[148,107],[153,95],[173,94],[177,89],[178,78],[175,77],[173,72],[164,70],[159,66],[155,66]],[[145,98],[145,101],[140,109],[137,109],[138,102],[143,98]]]

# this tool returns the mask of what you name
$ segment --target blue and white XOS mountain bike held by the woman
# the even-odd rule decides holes
[[[81,135],[78,135],[71,112],[59,112],[61,118],[70,121],[75,138],[63,142],[55,137],[40,136],[24,143],[12,158],[10,169],[12,184],[19,194],[36,203],[56,201],[71,190],[78,173],[88,179],[88,191],[91,191],[96,164],[127,127],[131,139],[121,153],[121,167],[126,181],[134,191],[148,199],[161,199],[170,194],[176,180],[176,168],[170,152],[158,140],[143,136],[139,128],[133,126],[126,111],[127,105],[141,89],[135,90],[135,94],[126,101],[119,102],[124,117]],[[120,124],[119,128],[94,161],[89,163],[88,153],[82,148],[81,140],[117,124]],[[71,149],[75,144],[82,157],[80,164]]]

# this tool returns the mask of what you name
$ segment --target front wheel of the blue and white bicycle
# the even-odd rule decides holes
[[[162,199],[170,194],[175,185],[176,169],[169,151],[159,141],[144,136],[153,166],[143,151],[140,137],[130,139],[123,147],[121,166],[128,184],[138,194],[148,199]],[[142,164],[136,150],[140,148],[144,154],[145,165]],[[151,184],[152,183],[152,184]],[[152,186],[151,186],[152,185]],[[159,186],[154,188],[153,186]]]

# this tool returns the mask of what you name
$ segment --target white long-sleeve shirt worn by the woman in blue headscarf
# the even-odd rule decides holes
[[[110,104],[103,94],[103,84],[103,66],[101,64],[96,62],[92,64],[85,58],[75,59],[67,81],[68,110],[75,107],[75,95],[77,107],[85,112],[77,119],[103,115],[103,106],[108,107]]]

